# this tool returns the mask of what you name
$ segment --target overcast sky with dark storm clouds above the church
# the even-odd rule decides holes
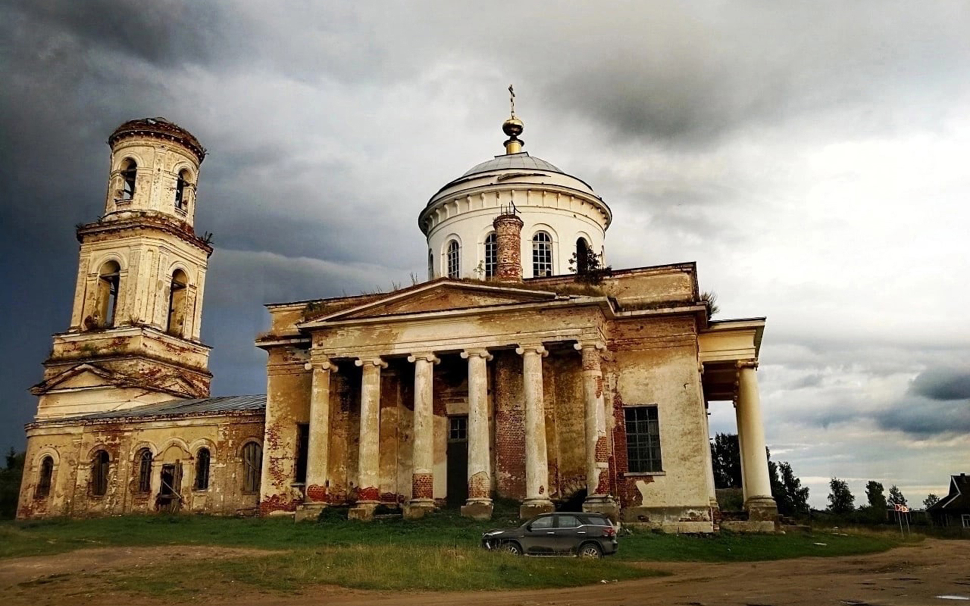
[[[424,275],[418,212],[501,153],[514,82],[525,149],[612,207],[614,268],[696,261],[718,317],[768,317],[767,442],[814,505],[833,475],[945,494],[970,472],[968,32],[957,1],[3,0],[0,448],[118,124],[209,148],[213,395],[263,393],[261,303]]]

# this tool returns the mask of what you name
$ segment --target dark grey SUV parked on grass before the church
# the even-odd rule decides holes
[[[489,530],[482,547],[516,556],[599,558],[618,549],[616,528],[602,514],[558,512],[535,516],[522,526]]]

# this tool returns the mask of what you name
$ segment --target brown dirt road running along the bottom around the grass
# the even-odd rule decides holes
[[[180,558],[234,557],[246,550],[178,549]],[[131,600],[117,592],[85,590],[85,575],[104,570],[151,565],[172,557],[173,548],[99,549],[60,556],[0,561],[0,596],[4,606],[70,603],[116,606]],[[568,590],[459,593],[402,593],[313,588],[299,595],[233,591],[199,595],[187,601],[232,606],[327,604],[328,606],[921,606],[966,603],[970,606],[970,541],[927,539],[885,554],[847,558],[799,558],[746,563],[644,564],[672,576],[607,583]],[[79,575],[78,573],[81,572]],[[38,583],[70,575],[63,583]],[[968,599],[942,598],[949,595]],[[156,603],[144,596],[140,604]],[[160,597],[158,604],[171,604]]]

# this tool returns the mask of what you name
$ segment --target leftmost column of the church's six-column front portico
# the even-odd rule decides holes
[[[307,485],[305,501],[327,502],[327,467],[330,455],[330,370],[334,366],[323,358],[308,362],[313,370],[309,398],[309,439],[307,440]]]

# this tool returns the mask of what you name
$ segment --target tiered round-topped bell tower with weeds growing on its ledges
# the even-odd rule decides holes
[[[161,117],[125,122],[108,144],[105,212],[78,227],[71,325],[31,390],[38,420],[209,396],[200,328],[212,247],[194,229],[206,149]]]

